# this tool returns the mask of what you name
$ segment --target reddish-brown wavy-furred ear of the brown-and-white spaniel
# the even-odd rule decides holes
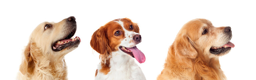
[[[106,29],[102,26],[98,30],[96,30],[91,36],[91,48],[100,54],[108,54],[109,52],[111,52],[111,49],[108,46],[108,39],[106,37],[106,33]]]

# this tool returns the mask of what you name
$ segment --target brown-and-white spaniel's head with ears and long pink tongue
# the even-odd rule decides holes
[[[91,47],[106,60],[111,52],[136,58],[140,63],[145,62],[144,54],[136,47],[141,40],[139,26],[128,18],[116,19],[106,23],[96,30],[91,38]],[[104,61],[103,61],[104,62]]]

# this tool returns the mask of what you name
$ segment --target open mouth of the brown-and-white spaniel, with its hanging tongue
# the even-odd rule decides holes
[[[123,46],[119,46],[119,49],[121,51],[123,51],[124,53],[127,53],[127,54],[131,55],[139,63],[144,63],[145,60],[146,60],[145,55],[136,46],[131,47],[131,48],[126,48],[126,47],[123,47]]]

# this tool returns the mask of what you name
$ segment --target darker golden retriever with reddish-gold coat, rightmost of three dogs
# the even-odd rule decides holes
[[[206,19],[189,21],[170,46],[157,80],[226,80],[219,56],[235,46],[231,38],[231,27],[214,27]]]

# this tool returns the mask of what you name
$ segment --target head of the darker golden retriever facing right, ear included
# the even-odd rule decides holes
[[[175,39],[179,55],[195,58],[198,53],[209,57],[228,53],[235,45],[230,42],[231,27],[214,27],[209,20],[194,19],[186,23]]]

